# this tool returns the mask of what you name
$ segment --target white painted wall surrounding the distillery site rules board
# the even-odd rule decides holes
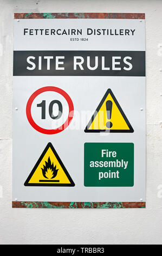
[[[0,243],[161,244],[162,1],[0,0],[0,10]],[[146,209],[11,208],[13,17],[31,12],[146,14]]]

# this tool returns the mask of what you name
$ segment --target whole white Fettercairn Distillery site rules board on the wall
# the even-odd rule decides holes
[[[144,207],[145,15],[15,14],[14,26],[13,206]]]

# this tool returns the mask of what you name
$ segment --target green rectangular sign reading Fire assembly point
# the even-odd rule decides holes
[[[133,143],[85,143],[87,187],[131,187],[134,185]]]

